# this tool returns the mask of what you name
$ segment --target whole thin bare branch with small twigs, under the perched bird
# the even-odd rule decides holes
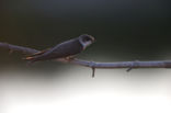
[[[16,52],[22,52],[24,54],[34,54],[39,50],[29,48],[29,47],[23,47],[23,46],[16,46],[12,44],[7,44],[7,43],[0,43],[1,48],[7,48],[10,50],[16,50]],[[66,61],[64,61],[66,63]],[[95,61],[88,61],[88,60],[82,60],[82,59],[72,59],[70,61],[67,61],[70,64],[75,65],[80,65],[80,66],[86,66],[90,67],[93,69],[92,76],[94,76],[94,69],[95,68],[128,68],[128,71],[132,70],[133,68],[171,68],[171,61],[167,60],[161,60],[161,61],[119,61],[119,63],[95,63]]]

